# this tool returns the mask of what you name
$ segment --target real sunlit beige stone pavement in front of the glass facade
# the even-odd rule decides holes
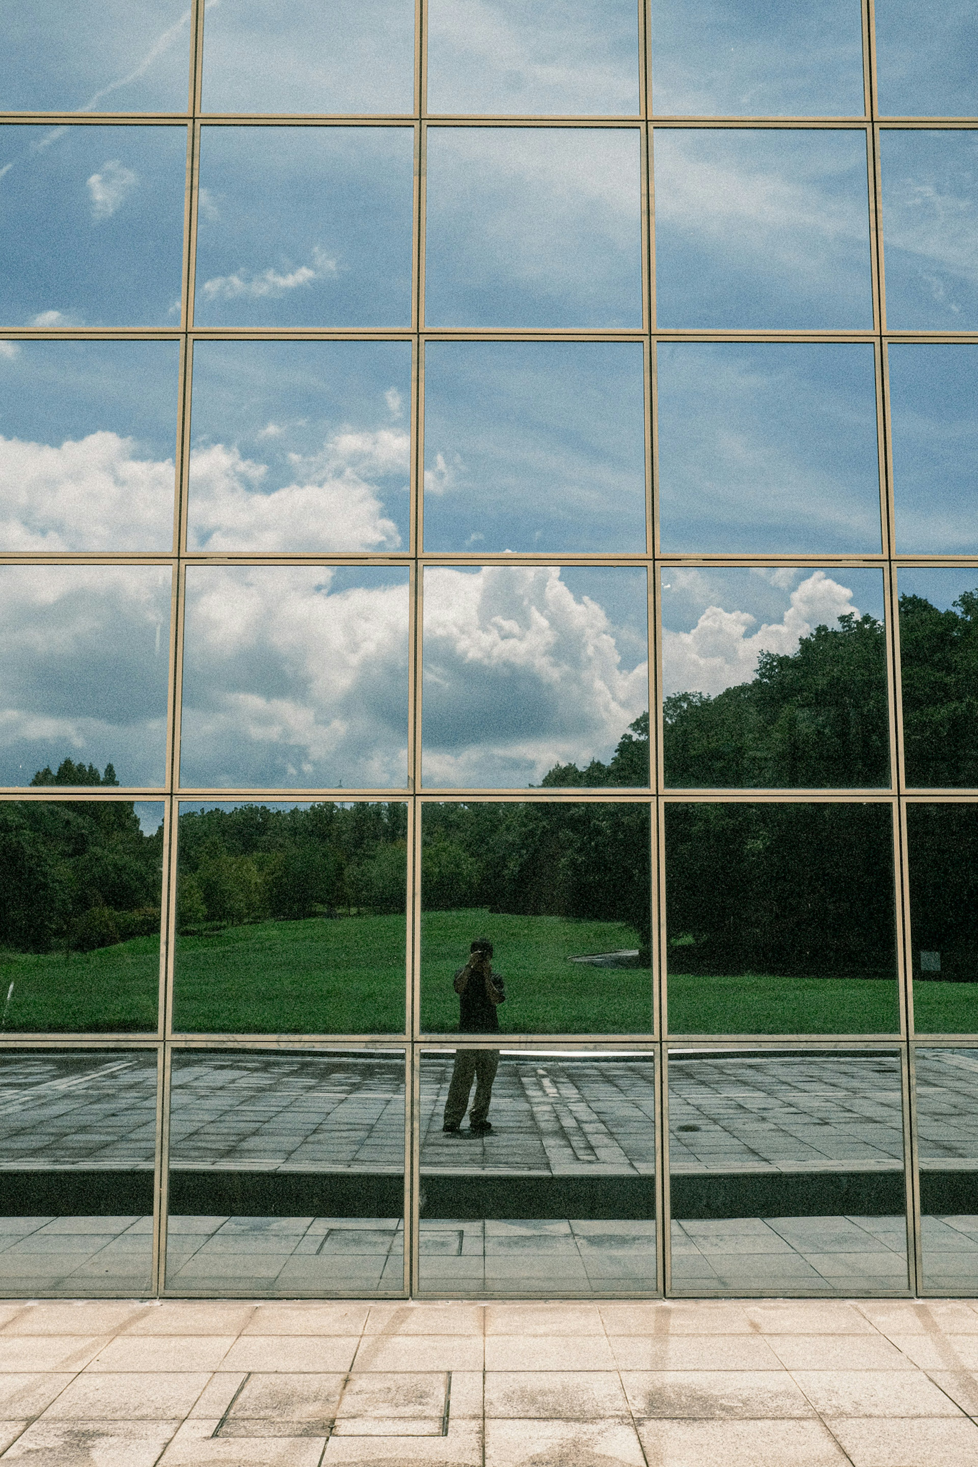
[[[978,1301],[0,1304],[31,1467],[978,1467]]]

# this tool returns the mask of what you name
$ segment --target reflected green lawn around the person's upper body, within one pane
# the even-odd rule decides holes
[[[592,968],[572,955],[638,948],[638,933],[614,921],[509,917],[482,910],[424,912],[421,918],[421,1027],[459,1024],[452,976],[474,937],[488,937],[493,967],[506,980],[500,1027],[509,1034],[647,1034],[652,1020],[648,968]]]

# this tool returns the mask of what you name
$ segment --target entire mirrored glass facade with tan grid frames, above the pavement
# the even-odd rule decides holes
[[[0,28],[0,1291],[978,1292],[975,0]]]

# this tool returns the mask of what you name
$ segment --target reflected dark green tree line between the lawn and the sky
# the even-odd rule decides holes
[[[978,785],[978,591],[938,610],[900,600],[911,783]],[[664,709],[666,779],[682,788],[874,788],[889,782],[886,632],[871,616],[817,626],[792,654],[717,697],[680,692]],[[557,764],[541,789],[648,785],[648,714],[607,763]],[[65,760],[32,786],[114,786]],[[487,801],[422,807],[427,912],[623,921],[641,962],[651,939],[645,804]],[[977,808],[911,807],[915,949],[969,977],[978,942]],[[186,811],[179,823],[177,927],[400,914],[408,810],[397,801],[305,810],[257,804]],[[666,808],[670,967],[679,973],[890,976],[890,807],[865,802],[698,804]],[[158,930],[163,832],[132,802],[0,805],[0,945],[87,952]],[[969,874],[972,873],[972,874]]]

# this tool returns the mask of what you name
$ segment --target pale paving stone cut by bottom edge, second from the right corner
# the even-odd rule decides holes
[[[849,1467],[821,1422],[639,1422],[648,1467]]]

